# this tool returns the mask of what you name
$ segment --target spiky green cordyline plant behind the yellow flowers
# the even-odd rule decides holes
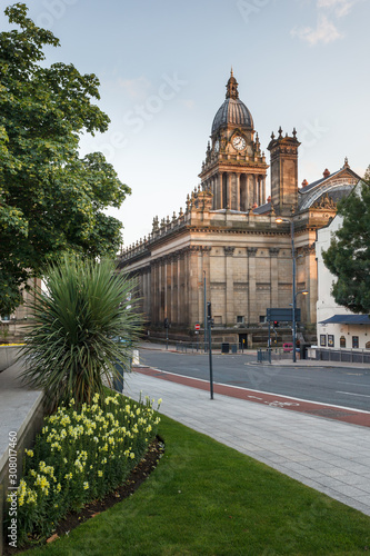
[[[44,389],[49,410],[71,398],[79,407],[103,396],[103,377],[117,376],[117,360],[129,365],[142,321],[136,284],[110,260],[76,257],[49,267],[44,282],[47,291],[36,291],[30,304],[23,378]]]

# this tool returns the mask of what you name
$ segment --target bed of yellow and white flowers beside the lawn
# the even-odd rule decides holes
[[[23,478],[13,495],[19,545],[49,536],[68,512],[124,481],[157,434],[152,403],[96,395],[91,406],[77,411],[71,400],[46,418],[33,450],[26,450]]]

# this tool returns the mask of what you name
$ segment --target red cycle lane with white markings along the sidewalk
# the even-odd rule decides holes
[[[151,367],[134,367],[134,371],[159,378],[161,380],[169,380],[171,383],[182,384],[192,388],[209,390],[209,383],[200,380],[199,378],[184,377],[176,375],[174,373],[152,369]],[[218,383],[213,384],[213,393],[221,394],[222,396],[230,396],[232,398],[246,399],[247,401],[253,401],[256,404],[264,404],[270,407],[280,407],[282,409],[290,409],[291,411],[316,415],[318,417],[326,417],[327,419],[341,420],[352,425],[360,425],[361,427],[370,427],[370,413],[360,411],[358,409],[330,406],[316,401],[306,401],[304,399],[278,396],[276,394],[250,390],[248,388],[238,388]]]

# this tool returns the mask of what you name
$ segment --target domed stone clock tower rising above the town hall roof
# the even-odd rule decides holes
[[[256,135],[256,137],[254,137]],[[247,212],[266,203],[266,163],[253,119],[239,99],[231,70],[223,105],[217,111],[199,175],[203,190],[213,195],[213,210]]]

